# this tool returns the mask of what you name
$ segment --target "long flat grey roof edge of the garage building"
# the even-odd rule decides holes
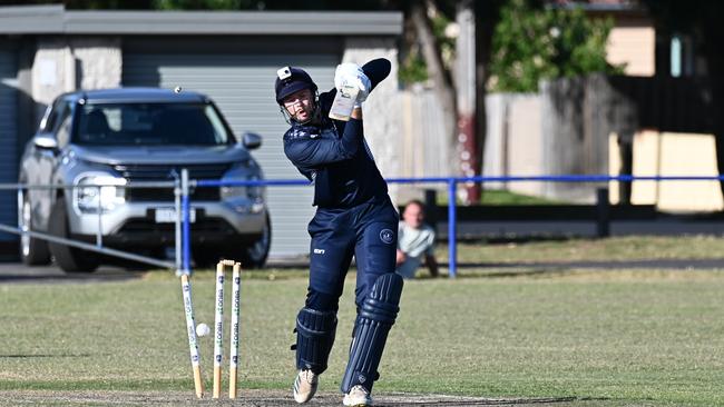
[[[398,36],[398,11],[67,11],[0,7],[0,34]]]

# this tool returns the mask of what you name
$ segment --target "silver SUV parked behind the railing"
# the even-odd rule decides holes
[[[77,91],[48,107],[20,163],[21,183],[72,185],[29,189],[19,202],[19,225],[32,231],[163,257],[174,245],[172,188],[118,188],[134,181],[258,180],[250,155],[261,138],[241,141],[212,100],[196,92],[155,88]],[[105,187],[99,188],[98,185]],[[192,201],[192,250],[197,266],[219,257],[261,267],[271,242],[261,187],[196,188]],[[100,212],[100,219],[99,219]],[[92,271],[101,258],[65,245],[23,236],[27,265],[55,258],[65,271]]]

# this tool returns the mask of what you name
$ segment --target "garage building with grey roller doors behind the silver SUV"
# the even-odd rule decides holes
[[[273,97],[280,67],[307,69],[322,90],[340,62],[385,57],[391,80],[375,91],[365,133],[383,173],[397,172],[399,12],[67,11],[0,8],[0,182],[16,182],[18,158],[48,103],[76,89],[180,86],[208,95],[234,132],[262,136],[254,151],[267,179],[300,179],[282,150],[287,128]],[[14,191],[0,192],[0,224],[14,225]],[[309,251],[312,188],[271,187],[271,257]],[[0,235],[6,252],[17,237]]]

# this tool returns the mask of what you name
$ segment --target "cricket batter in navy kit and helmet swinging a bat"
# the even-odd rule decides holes
[[[345,406],[371,406],[372,386],[388,332],[399,311],[402,278],[394,272],[398,214],[388,187],[364,141],[361,103],[390,73],[390,61],[363,67],[337,66],[335,89],[317,96],[302,69],[278,70],[276,101],[291,125],[284,153],[314,183],[317,207],[309,225],[310,285],[296,316],[294,399],[309,401],[327,367],[336,311],[352,256],[356,258],[356,320],[350,360],[342,378]],[[330,119],[332,101],[343,86],[359,89],[349,121]]]

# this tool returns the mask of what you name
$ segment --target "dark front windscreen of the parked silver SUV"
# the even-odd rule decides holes
[[[212,105],[102,103],[78,107],[72,142],[84,146],[218,146],[229,143]]]

